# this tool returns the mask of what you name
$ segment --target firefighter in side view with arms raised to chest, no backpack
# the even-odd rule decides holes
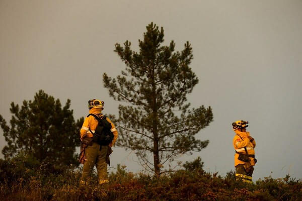
[[[254,138],[250,136],[250,133],[246,132],[248,123],[249,122],[243,120],[232,123],[233,130],[236,133],[233,139],[233,145],[235,148],[236,177],[237,179],[252,183],[254,165],[257,162],[254,151],[256,142]]]

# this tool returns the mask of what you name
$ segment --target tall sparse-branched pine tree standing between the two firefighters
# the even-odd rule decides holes
[[[116,79],[104,73],[103,82],[110,96],[128,103],[118,107],[117,145],[134,150],[146,170],[160,175],[166,162],[208,145],[195,135],[209,125],[213,114],[210,107],[190,110],[185,104],[198,83],[189,67],[193,59],[189,42],[174,52],[174,41],[162,45],[163,28],[150,23],[146,29],[143,40],[138,40],[139,53],[131,50],[129,41],[123,47],[115,45],[126,69]]]

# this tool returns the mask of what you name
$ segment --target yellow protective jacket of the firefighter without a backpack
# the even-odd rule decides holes
[[[254,148],[256,147],[256,142],[255,142],[255,140],[253,140],[253,142],[250,142],[250,139],[248,138],[250,136],[250,132],[240,132],[239,130],[236,130],[235,133],[236,133],[236,135],[234,136],[234,139],[233,139],[233,145],[234,145],[235,151],[246,154],[244,147],[247,147],[248,154],[255,155]],[[245,163],[244,161],[238,160],[238,156],[239,156],[239,154],[235,153],[235,167],[238,164]],[[250,157],[250,159],[251,159],[251,161],[250,161],[251,165],[254,166],[255,165],[254,158]]]

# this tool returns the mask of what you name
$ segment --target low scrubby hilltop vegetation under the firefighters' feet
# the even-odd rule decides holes
[[[99,186],[96,173],[80,188],[82,170],[73,166],[39,164],[19,154],[0,159],[0,200],[300,200],[302,182],[266,177],[254,184],[202,169],[179,170],[160,177],[132,173],[118,166],[110,183]]]

